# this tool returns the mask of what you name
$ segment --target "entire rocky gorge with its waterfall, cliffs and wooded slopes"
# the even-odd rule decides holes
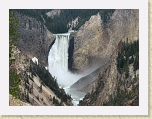
[[[139,105],[139,10],[13,12],[20,22],[12,67],[24,102]]]

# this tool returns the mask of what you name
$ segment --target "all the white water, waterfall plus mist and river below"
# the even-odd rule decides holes
[[[66,93],[71,94],[73,104],[77,105],[85,93],[69,88],[82,77],[82,75],[74,75],[68,71],[69,36],[70,33],[56,34],[55,43],[48,56],[48,69],[51,75],[57,78],[59,86],[63,87]]]

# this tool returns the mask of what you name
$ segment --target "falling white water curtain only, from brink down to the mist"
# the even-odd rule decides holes
[[[48,57],[50,72],[51,70],[57,69],[68,71],[69,35],[70,33],[56,34],[55,43],[52,46]]]

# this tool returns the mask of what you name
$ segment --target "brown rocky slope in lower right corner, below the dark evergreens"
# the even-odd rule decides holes
[[[105,70],[96,76],[95,85],[79,105],[139,105],[139,70],[129,65],[129,78],[118,73],[117,52],[114,52]]]

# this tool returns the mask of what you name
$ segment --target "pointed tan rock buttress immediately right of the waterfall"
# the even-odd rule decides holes
[[[84,71],[99,63],[107,49],[109,37],[99,14],[91,16],[74,37],[72,68]]]

